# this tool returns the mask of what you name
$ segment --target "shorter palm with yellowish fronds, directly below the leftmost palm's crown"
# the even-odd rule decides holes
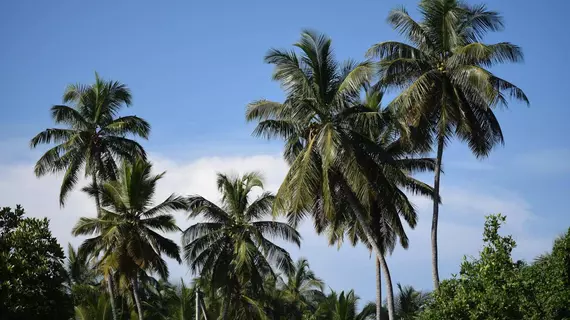
[[[80,252],[103,254],[100,264],[107,279],[112,280],[115,271],[130,285],[141,319],[140,273],[148,270],[166,279],[168,266],[162,254],[181,261],[178,245],[157,231],[178,231],[174,217],[167,212],[187,208],[185,199],[174,194],[153,206],[156,184],[164,173],[153,176],[151,169],[152,165],[142,159],[133,164],[125,161],[118,180],[84,188],[90,196],[101,199],[102,215],[81,218],[72,230],[75,236],[96,235],[83,242]],[[109,292],[112,299],[111,286]]]

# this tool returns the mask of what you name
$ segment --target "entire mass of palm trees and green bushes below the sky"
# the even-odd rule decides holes
[[[245,117],[256,123],[255,136],[284,142],[289,171],[276,194],[263,190],[261,173],[219,173],[219,201],[172,194],[156,202],[164,173],[152,172],[136,141],[150,136],[150,124],[120,115],[131,105],[128,87],[98,75],[94,84],[70,85],[64,105],[51,109],[60,127],[30,145],[55,144],[35,174],[63,173],[61,205],[81,174],[90,178],[82,191],[94,200],[93,215],[71,230],[88,238],[69,245],[64,262],[47,220],[24,218],[20,207],[2,210],[2,318],[568,319],[570,233],[527,264],[512,260],[515,242],[499,234],[504,217],[489,216],[480,257],[440,283],[445,146],[458,138],[476,157],[488,156],[503,143],[493,110],[528,99],[488,70],[523,58],[516,45],[483,43],[503,28],[498,13],[456,0],[422,0],[419,9],[419,21],[403,8],[391,11],[388,22],[406,42],[375,44],[364,62],[337,61],[331,39],[313,31],[303,31],[294,50],[267,53],[285,99],[254,101]],[[384,106],[384,91],[394,89]],[[433,172],[433,186],[418,172]],[[433,201],[433,293],[397,284],[395,294],[385,259],[410,245],[405,226],[415,227],[417,212],[409,195]],[[175,212],[199,222],[180,230]],[[305,219],[331,245],[348,240],[370,250],[375,303],[325,290],[306,259],[293,261],[274,242],[300,246],[296,228]],[[164,257],[186,263],[195,277],[168,282]]]

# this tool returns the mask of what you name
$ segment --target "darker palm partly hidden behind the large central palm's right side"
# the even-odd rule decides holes
[[[411,130],[400,128],[392,110],[382,109],[383,91],[379,84],[372,86],[366,84],[364,93],[365,99],[360,102],[360,105],[367,111],[354,119],[354,126],[360,128],[363,134],[367,134],[393,159],[389,165],[382,167],[385,172],[384,177],[387,179],[379,181],[378,184],[382,185],[382,188],[370,194],[368,208],[374,238],[383,252],[383,255],[377,256],[376,259],[376,316],[377,320],[381,317],[380,270],[383,270],[386,278],[389,318],[395,319],[392,279],[385,255],[394,251],[398,239],[404,249],[408,248],[408,236],[402,220],[413,229],[417,224],[417,212],[406,192],[427,196],[433,194],[430,186],[415,179],[412,174],[433,171],[435,160],[422,157],[424,151],[427,150],[426,146],[408,143],[406,140],[409,135],[406,134]],[[341,205],[347,203],[342,194],[338,194],[336,198]],[[329,225],[329,242],[340,245],[346,233],[352,245],[362,241],[372,251],[362,228],[354,218],[353,208],[343,207],[337,211],[342,214],[337,216],[335,223]]]

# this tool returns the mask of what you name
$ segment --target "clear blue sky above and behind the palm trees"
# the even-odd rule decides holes
[[[564,58],[570,48],[567,36],[561,36],[566,35],[570,3],[487,2],[504,15],[507,26],[504,32],[490,35],[487,42],[510,41],[522,46],[525,53],[525,63],[493,71],[523,88],[531,107],[513,103],[509,110],[498,111],[506,146],[497,148],[489,159],[475,160],[458,143],[446,151],[442,232],[445,226],[452,230],[442,236],[442,241],[451,243],[449,259],[442,261],[444,277],[457,271],[464,253],[477,252],[484,214],[507,211],[504,213],[514,221],[509,230],[530,248],[520,249],[523,258],[546,250],[551,239],[570,225],[565,203],[570,194],[570,142],[566,133],[570,67]],[[267,50],[290,48],[303,28],[311,28],[332,37],[339,59],[362,59],[370,45],[400,39],[385,22],[388,11],[404,5],[417,16],[416,3],[3,1],[0,180],[4,181],[4,191],[11,191],[13,197],[0,193],[0,205],[18,201],[38,211],[55,208],[45,213],[28,209],[31,214],[49,216],[55,223],[67,214],[59,212],[56,198],[40,203],[14,191],[48,192],[57,188],[56,179],[50,180],[50,185],[28,177],[31,169],[21,171],[25,177],[16,173],[31,166],[38,156],[28,150],[27,141],[52,125],[48,110],[60,102],[65,86],[90,83],[95,71],[132,89],[134,107],[128,113],[151,122],[153,132],[145,146],[169,171],[183,175],[202,168],[204,159],[239,164],[242,167],[230,168],[238,171],[255,169],[252,163],[259,164],[255,156],[268,155],[270,163],[277,163],[280,143],[251,137],[252,125],[243,117],[248,102],[283,96],[278,84],[271,81],[271,67],[263,63]],[[280,164],[272,167],[264,162],[259,166],[269,171],[277,167],[277,171],[285,170]],[[183,172],[183,168],[188,170]],[[8,184],[8,178],[14,183]],[[271,184],[278,184],[278,180],[276,177]],[[29,183],[18,187],[21,181]],[[191,191],[199,192],[201,181],[192,183],[196,189]],[[421,199],[418,203],[423,213],[420,221],[427,223],[429,204],[422,205]],[[78,204],[78,208],[82,207]],[[64,237],[63,229],[61,232]],[[414,232],[418,244],[412,242],[412,248],[427,248],[427,233],[424,237],[423,231]],[[327,249],[331,260],[326,260],[319,254],[326,247],[325,241],[313,237],[309,228],[306,233],[307,250],[296,255],[308,256],[331,286],[354,287],[364,298],[373,298],[369,282],[373,264],[366,252]],[[472,245],[453,246],[458,238],[459,243]],[[429,255],[424,257],[423,251],[414,249],[411,253],[400,251],[393,257],[395,281],[429,288]],[[358,256],[354,258],[357,260],[351,260],[353,256]],[[355,265],[360,261],[362,265]],[[345,276],[343,272],[348,271],[351,274]]]

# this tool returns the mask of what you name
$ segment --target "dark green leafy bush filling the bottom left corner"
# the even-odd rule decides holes
[[[47,219],[25,218],[24,209],[0,210],[0,314],[2,319],[67,319],[64,253]]]

